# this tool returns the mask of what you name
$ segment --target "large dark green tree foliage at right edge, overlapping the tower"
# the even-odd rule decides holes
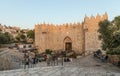
[[[103,50],[107,50],[108,54],[120,55],[120,16],[111,22],[100,22],[99,27],[99,39],[102,40]]]

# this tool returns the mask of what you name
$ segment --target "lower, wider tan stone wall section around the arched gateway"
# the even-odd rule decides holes
[[[35,26],[35,44],[39,51],[45,49],[65,50],[64,39],[69,37],[72,41],[72,49],[76,52],[82,50],[82,28],[80,23],[50,25],[40,24]]]

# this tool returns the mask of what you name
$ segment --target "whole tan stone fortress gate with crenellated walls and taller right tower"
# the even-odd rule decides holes
[[[107,13],[104,15],[85,16],[82,23],[66,24],[37,24],[35,25],[35,46],[39,52],[46,49],[73,50],[78,54],[93,52],[101,47],[98,39],[99,22],[107,20]]]

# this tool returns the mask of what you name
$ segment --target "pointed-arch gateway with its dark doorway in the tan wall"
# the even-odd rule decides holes
[[[65,51],[70,51],[72,50],[72,40],[70,37],[65,37],[64,40],[63,40],[63,43],[64,43],[64,50]]]

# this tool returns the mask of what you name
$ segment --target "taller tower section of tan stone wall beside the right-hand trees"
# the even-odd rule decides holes
[[[99,14],[96,17],[91,16],[86,17],[84,20],[84,26],[87,27],[85,31],[85,51],[90,53],[101,49],[101,41],[98,38],[98,29],[99,22],[108,19],[107,14],[105,13],[103,16]]]

